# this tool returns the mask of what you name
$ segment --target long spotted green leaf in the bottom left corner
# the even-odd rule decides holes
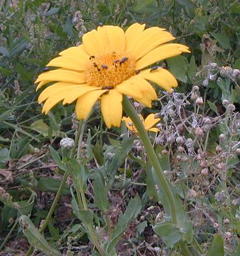
[[[19,225],[22,228],[22,232],[27,238],[27,241],[37,250],[40,250],[49,256],[60,256],[62,255],[59,251],[50,247],[46,239],[39,233],[37,228],[31,222],[30,218],[26,215],[19,217]]]

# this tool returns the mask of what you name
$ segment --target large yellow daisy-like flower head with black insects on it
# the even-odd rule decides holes
[[[39,95],[39,103],[45,101],[42,113],[60,101],[65,105],[77,100],[77,118],[85,119],[95,101],[100,100],[103,118],[110,128],[120,126],[123,95],[151,107],[157,96],[148,81],[170,92],[177,82],[169,71],[144,68],[190,51],[182,44],[168,43],[175,38],[165,29],[144,29],[145,24],[138,23],[125,32],[118,26],[98,26],[84,34],[80,46],[60,52],[47,64],[57,69],[40,74],[35,82],[37,89],[54,82]]]

